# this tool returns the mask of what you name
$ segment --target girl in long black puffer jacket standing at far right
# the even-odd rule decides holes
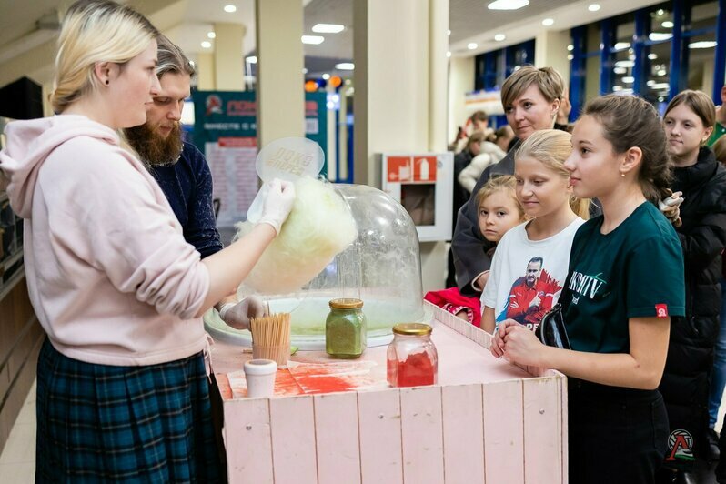
[[[719,334],[721,251],[726,247],[726,169],[705,146],[714,117],[711,98],[691,90],[674,96],[663,115],[667,150],[675,166],[671,187],[683,197],[682,223],[676,233],[685,260],[686,314],[671,318],[660,393],[671,431],[691,434],[697,459],[708,455],[707,430],[711,428],[714,447],[718,442],[712,429],[718,409],[709,425],[708,408],[713,346]],[[722,393],[722,383],[713,383],[721,384]],[[671,469],[685,473],[693,470],[693,464],[693,460],[667,459],[662,481],[671,482]]]

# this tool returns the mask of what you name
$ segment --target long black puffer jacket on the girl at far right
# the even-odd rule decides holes
[[[671,431],[691,433],[697,454],[705,449],[713,346],[719,335],[721,251],[726,247],[726,169],[708,147],[693,166],[676,168],[673,191],[683,192],[676,228],[683,247],[686,316],[671,318],[671,337],[660,392]],[[653,281],[667,284],[668,281]]]

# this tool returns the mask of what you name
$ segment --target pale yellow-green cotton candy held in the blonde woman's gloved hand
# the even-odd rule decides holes
[[[246,289],[259,294],[297,291],[358,237],[348,204],[331,184],[301,177],[295,192],[287,221],[243,282]],[[248,221],[237,224],[235,238],[252,227]]]

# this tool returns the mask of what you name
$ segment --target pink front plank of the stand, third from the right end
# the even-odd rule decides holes
[[[484,482],[482,386],[441,388],[444,475],[447,484]]]

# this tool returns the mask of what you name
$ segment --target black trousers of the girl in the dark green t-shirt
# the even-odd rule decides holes
[[[652,483],[668,449],[658,390],[568,379],[571,484]]]

